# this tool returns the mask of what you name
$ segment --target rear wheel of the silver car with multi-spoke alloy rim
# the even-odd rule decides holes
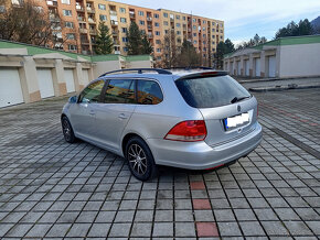
[[[138,137],[126,145],[126,159],[132,175],[139,181],[152,179],[158,175],[158,166],[147,143]]]

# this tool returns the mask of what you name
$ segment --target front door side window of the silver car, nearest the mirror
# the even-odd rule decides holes
[[[79,102],[84,103],[97,103],[100,101],[100,94],[104,88],[105,81],[104,80],[97,80],[93,84],[90,84],[88,87],[86,87],[81,96],[79,96]]]

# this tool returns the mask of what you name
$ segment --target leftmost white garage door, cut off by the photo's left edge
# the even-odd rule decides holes
[[[18,69],[0,68],[0,108],[23,102]]]

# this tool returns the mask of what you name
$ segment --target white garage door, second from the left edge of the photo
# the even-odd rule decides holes
[[[36,74],[41,98],[53,97],[54,88],[51,69],[38,69]]]

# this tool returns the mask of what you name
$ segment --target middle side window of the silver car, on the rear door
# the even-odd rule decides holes
[[[105,103],[134,103],[135,81],[130,79],[110,80],[105,94]]]

